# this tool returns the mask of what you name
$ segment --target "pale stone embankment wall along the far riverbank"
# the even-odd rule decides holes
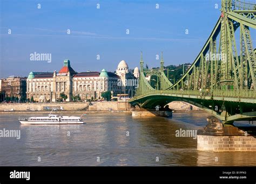
[[[171,102],[170,109],[174,112],[204,112],[200,108],[194,107],[185,102]],[[5,110],[14,111],[5,111]],[[36,113],[48,112],[51,109],[63,112],[131,112],[132,107],[128,102],[65,102],[65,103],[2,103],[0,104],[0,113],[21,112]],[[60,110],[62,109],[62,110]],[[127,112],[126,112],[127,111]]]

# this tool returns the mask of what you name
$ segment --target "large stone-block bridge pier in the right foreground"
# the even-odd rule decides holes
[[[223,125],[214,116],[207,117],[208,124],[197,133],[197,150],[210,152],[256,151],[256,129]]]

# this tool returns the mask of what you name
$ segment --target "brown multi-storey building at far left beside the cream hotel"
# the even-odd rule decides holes
[[[26,77],[9,76],[1,81],[1,91],[4,98],[18,98],[18,100],[26,99]]]

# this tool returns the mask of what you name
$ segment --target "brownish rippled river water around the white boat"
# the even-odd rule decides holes
[[[0,166],[256,166],[255,152],[202,152],[197,139],[176,137],[176,130],[205,126],[208,115],[96,113],[83,125],[21,125],[19,117],[34,115],[0,114],[0,130],[21,130],[20,139],[0,138]]]

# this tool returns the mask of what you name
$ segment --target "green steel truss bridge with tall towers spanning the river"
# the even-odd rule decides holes
[[[185,101],[210,112],[223,123],[256,120],[256,4],[222,0],[220,17],[192,65],[176,82],[160,69],[144,68],[140,60],[139,87],[132,106],[153,110],[172,101]],[[251,31],[251,33],[250,33]],[[153,88],[145,76],[157,76]]]

